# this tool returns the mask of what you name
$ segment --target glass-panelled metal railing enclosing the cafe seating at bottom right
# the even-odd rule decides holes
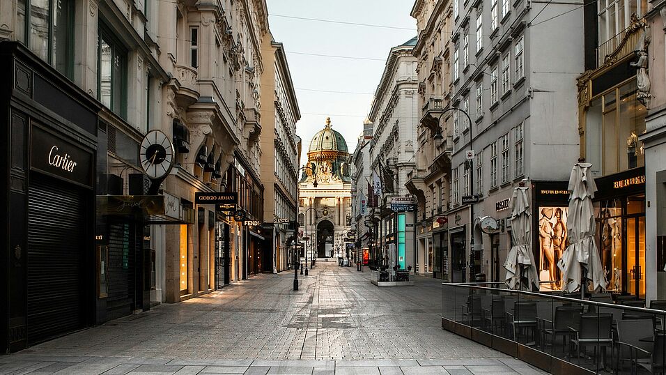
[[[443,283],[442,328],[553,374],[649,374],[666,368],[666,300]],[[658,371],[656,371],[658,370]]]

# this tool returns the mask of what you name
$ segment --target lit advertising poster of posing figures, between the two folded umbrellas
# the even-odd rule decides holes
[[[568,246],[567,207],[539,207],[539,280],[542,290],[561,290],[562,271],[557,262]]]

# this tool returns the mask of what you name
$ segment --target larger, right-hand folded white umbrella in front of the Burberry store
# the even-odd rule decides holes
[[[591,280],[594,290],[606,289],[607,281],[596,247],[594,207],[592,198],[596,184],[589,167],[592,164],[579,159],[569,178],[569,211],[566,228],[569,245],[557,266],[562,270],[562,289],[573,293]],[[584,289],[580,289],[584,293]]]

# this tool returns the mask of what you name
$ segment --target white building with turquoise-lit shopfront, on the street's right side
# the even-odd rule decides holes
[[[415,139],[418,111],[417,59],[412,49],[417,38],[391,49],[387,63],[375,91],[370,108],[369,121],[373,124],[373,137],[368,146],[369,174],[376,174],[382,181],[382,195],[371,204],[375,224],[375,246],[370,254],[373,267],[414,268],[415,254],[413,211],[394,212],[392,197],[408,197],[405,188],[410,171],[416,165]],[[413,208],[413,206],[411,206]]]

